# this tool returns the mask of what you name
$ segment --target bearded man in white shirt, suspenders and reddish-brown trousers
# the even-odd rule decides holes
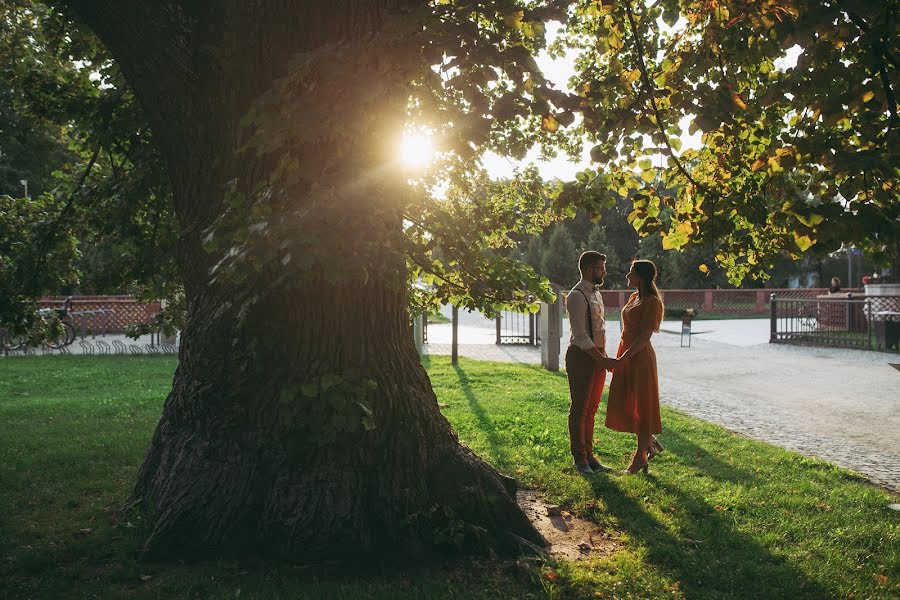
[[[606,369],[616,365],[606,355],[606,324],[603,297],[597,287],[606,275],[606,255],[588,250],[578,258],[581,281],[566,297],[571,338],[566,350],[569,378],[569,446],[575,469],[584,475],[609,471],[594,456],[594,417],[600,406]]]

